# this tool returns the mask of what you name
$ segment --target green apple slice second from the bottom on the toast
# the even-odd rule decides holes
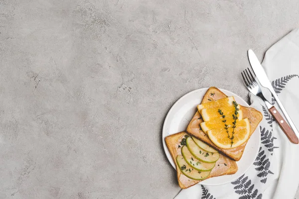
[[[187,164],[198,170],[198,171],[211,171],[214,167],[215,167],[215,162],[213,163],[206,163],[206,162],[202,162],[197,160],[188,150],[188,148],[186,146],[183,146],[181,149],[182,155],[185,159],[185,161],[187,162]]]

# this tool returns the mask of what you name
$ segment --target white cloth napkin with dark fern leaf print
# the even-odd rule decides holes
[[[299,128],[299,29],[274,44],[262,65]],[[182,190],[175,199],[295,198],[299,185],[299,145],[289,141],[262,100],[251,94],[249,97],[251,106],[264,115],[258,127],[261,129],[261,147],[254,165],[236,181],[221,186],[197,184]],[[274,100],[273,103],[279,109]]]

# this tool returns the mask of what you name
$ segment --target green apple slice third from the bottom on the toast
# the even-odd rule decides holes
[[[201,160],[202,162],[216,162],[220,157],[219,153],[208,152],[200,148],[191,137],[188,137],[186,139],[186,145],[191,154],[195,156],[195,158],[197,158],[198,160]]]

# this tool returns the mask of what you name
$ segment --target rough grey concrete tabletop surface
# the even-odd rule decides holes
[[[298,0],[0,0],[0,199],[171,199],[171,105],[247,99],[246,51],[299,26]]]

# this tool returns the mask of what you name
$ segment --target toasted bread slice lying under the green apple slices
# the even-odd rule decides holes
[[[198,180],[189,179],[184,174],[182,174],[176,163],[177,155],[181,155],[181,148],[179,148],[178,145],[185,135],[187,135],[187,133],[183,131],[165,137],[166,146],[176,166],[178,185],[182,189],[187,189],[188,187],[191,187],[200,182]],[[217,160],[215,167],[212,169],[211,173],[206,179],[216,176],[235,174],[237,171],[238,166],[236,162],[220,154],[220,158]]]

